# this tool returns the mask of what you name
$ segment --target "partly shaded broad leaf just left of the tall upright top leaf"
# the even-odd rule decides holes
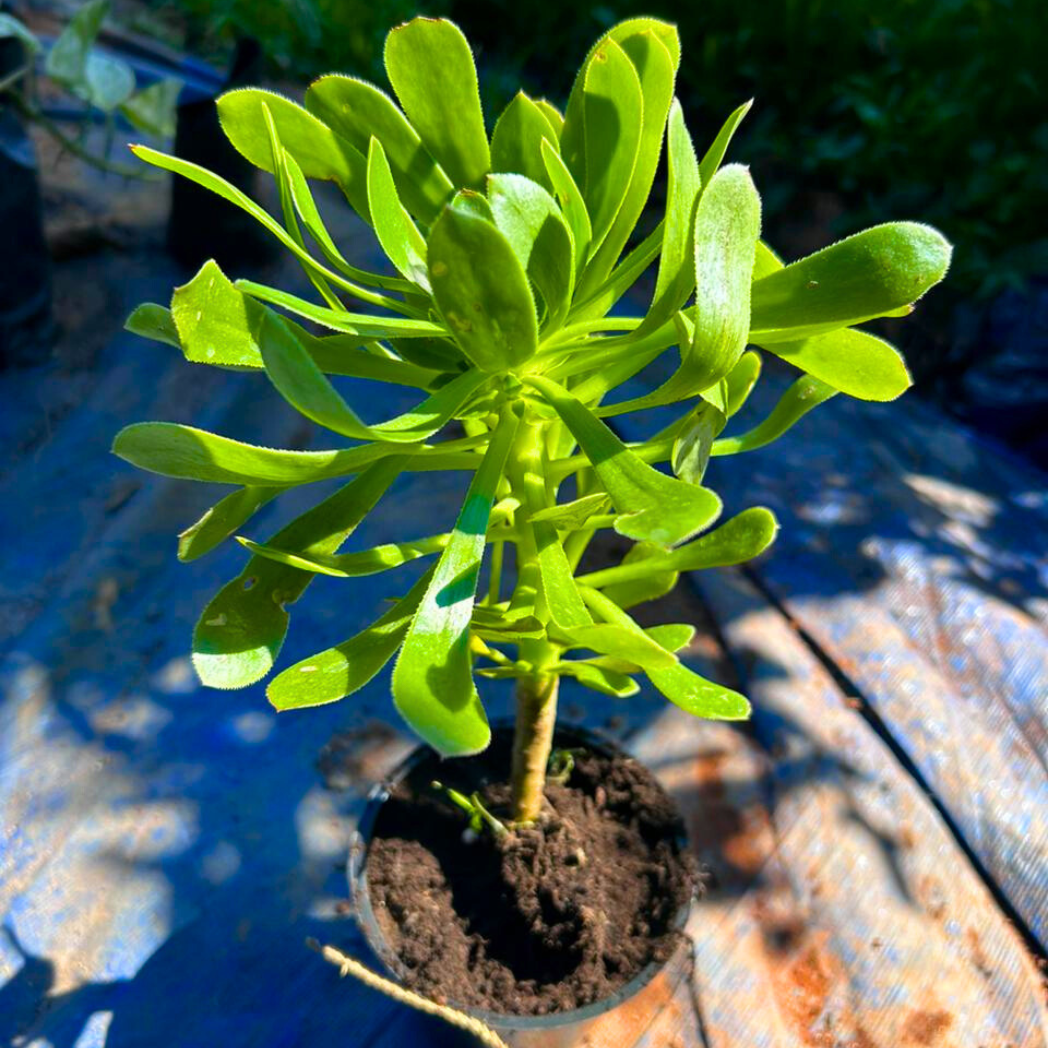
[[[424,224],[434,221],[454,187],[385,91],[353,77],[322,77],[306,91],[306,109],[363,154],[377,138],[405,206]]]

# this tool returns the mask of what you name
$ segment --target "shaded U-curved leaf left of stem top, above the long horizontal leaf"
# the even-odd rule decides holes
[[[378,425],[367,425],[346,403],[279,316],[263,318],[260,346],[266,374],[296,411],[352,440],[416,443],[432,436],[488,376],[471,369],[453,378],[411,411]]]

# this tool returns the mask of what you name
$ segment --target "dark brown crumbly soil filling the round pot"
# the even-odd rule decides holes
[[[602,1000],[669,957],[696,883],[673,803],[628,757],[588,749],[574,762],[565,785],[548,785],[540,823],[501,838],[464,834],[464,813],[430,784],[479,789],[504,814],[508,733],[476,758],[424,760],[383,806],[367,877],[410,986],[545,1014]]]

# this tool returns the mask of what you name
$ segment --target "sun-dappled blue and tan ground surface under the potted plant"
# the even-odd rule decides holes
[[[108,455],[146,417],[323,438],[264,378],[121,333],[182,279],[162,255],[68,266],[63,286],[95,293],[56,364],[0,375],[0,1045],[456,1043],[303,945],[367,956],[343,865],[368,784],[411,745],[386,680],[280,718],[260,686],[199,689],[190,630],[242,554],[180,565],[174,534],[221,493]],[[361,541],[451,522],[464,480],[406,478]],[[914,398],[839,398],[711,482],[728,511],[770,505],[780,540],[659,614],[703,627],[691,657],[748,692],[752,723],[650,694],[564,700],[657,769],[709,872],[691,987],[608,1020],[592,1048],[1048,1044],[1045,478]],[[318,581],[282,662],[383,595]],[[488,696],[507,712],[505,689]]]

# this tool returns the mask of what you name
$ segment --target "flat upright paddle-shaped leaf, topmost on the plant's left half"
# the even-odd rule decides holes
[[[414,18],[386,38],[386,72],[423,145],[456,187],[479,189],[490,170],[477,70],[462,30]]]

